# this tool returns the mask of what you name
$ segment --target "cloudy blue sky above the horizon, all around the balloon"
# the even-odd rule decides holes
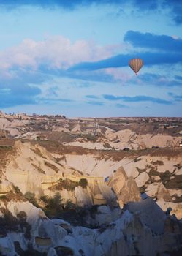
[[[0,11],[4,112],[182,116],[181,0],[0,0]]]

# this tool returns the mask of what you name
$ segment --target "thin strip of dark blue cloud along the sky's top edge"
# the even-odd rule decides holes
[[[49,9],[56,9],[56,8],[64,8],[65,10],[74,10],[76,7],[88,7],[91,4],[94,5],[103,5],[103,4],[110,4],[115,5],[118,8],[124,8],[127,5],[130,5],[131,12],[134,10],[141,12],[153,12],[153,11],[160,11],[162,10],[168,11],[170,13],[171,19],[176,24],[182,23],[182,1],[181,0],[74,0],[74,1],[67,1],[67,0],[1,0],[0,7],[5,7],[10,9],[14,9],[17,7],[22,6],[34,6],[34,7],[42,7],[42,8],[49,8]],[[166,13],[168,15],[168,13]]]

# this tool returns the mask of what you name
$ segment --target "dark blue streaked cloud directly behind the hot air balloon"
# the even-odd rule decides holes
[[[129,59],[138,57],[143,59],[145,65],[182,63],[182,39],[174,39],[166,35],[128,31],[124,41],[129,42],[133,46],[133,53],[118,54],[117,56],[100,61],[82,62],[75,64],[70,70],[126,67],[128,66]],[[145,50],[137,50],[137,48],[144,48]]]

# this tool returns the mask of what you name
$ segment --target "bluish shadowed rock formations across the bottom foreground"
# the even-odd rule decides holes
[[[58,246],[69,248],[76,256],[80,256],[80,252],[86,256],[132,256],[136,252],[140,255],[155,256],[156,252],[162,254],[168,250],[179,249],[177,237],[181,236],[181,230],[178,222],[166,217],[150,198],[139,203],[129,203],[121,217],[99,229],[72,227],[61,219],[42,218],[39,209],[33,207],[34,211],[30,211],[31,207],[26,202],[11,202],[8,206],[13,214],[18,213],[18,208],[26,211],[27,218],[32,224],[31,241],[27,241],[23,233],[18,232],[0,237],[0,252],[4,255],[16,255],[14,241],[18,241],[23,250],[26,250],[28,243],[31,242],[34,249],[46,252],[48,256],[56,256],[55,248]],[[97,217],[107,220],[107,217],[112,215],[110,211],[106,206],[99,206]],[[36,225],[33,225],[33,220]],[[102,221],[101,218],[98,220]],[[71,233],[60,225],[69,227]],[[171,233],[174,228],[175,233]],[[37,244],[37,237],[45,239],[45,242],[49,239],[50,243],[47,246]]]

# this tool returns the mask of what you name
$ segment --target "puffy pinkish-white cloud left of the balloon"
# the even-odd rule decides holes
[[[67,69],[81,61],[98,61],[113,55],[113,45],[99,46],[94,42],[77,40],[71,42],[62,36],[48,37],[36,42],[24,39],[15,47],[0,52],[0,68],[30,67],[37,69],[41,64],[50,68]]]

